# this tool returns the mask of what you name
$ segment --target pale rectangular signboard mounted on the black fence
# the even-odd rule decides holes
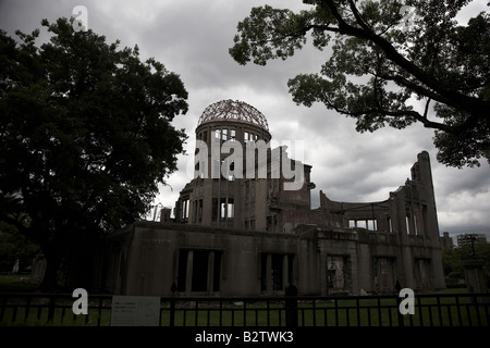
[[[159,326],[160,298],[112,296],[111,326]]]

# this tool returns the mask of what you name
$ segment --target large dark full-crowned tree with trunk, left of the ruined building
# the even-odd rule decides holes
[[[66,254],[139,219],[176,170],[187,111],[179,75],[69,20],[39,35],[0,32],[0,217],[36,241],[53,289]]]

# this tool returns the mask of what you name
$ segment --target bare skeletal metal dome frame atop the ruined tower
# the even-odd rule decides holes
[[[238,100],[221,100],[207,107],[199,117],[198,125],[210,121],[246,122],[269,132],[266,116],[254,107]]]

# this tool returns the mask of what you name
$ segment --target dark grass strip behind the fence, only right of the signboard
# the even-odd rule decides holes
[[[454,293],[453,293],[454,294]],[[457,294],[457,293],[456,293]],[[460,293],[461,294],[461,293]],[[336,303],[299,303],[299,326],[399,326],[395,299],[339,300]],[[468,298],[424,298],[415,303],[414,315],[401,315],[405,326],[473,326],[490,325],[489,308],[476,307]],[[170,311],[162,310],[161,324],[170,324]],[[175,326],[281,326],[285,324],[283,306],[247,304],[243,308],[177,309]],[[245,324],[245,325],[244,325]]]

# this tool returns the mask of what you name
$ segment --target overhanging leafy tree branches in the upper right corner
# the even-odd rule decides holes
[[[321,102],[356,119],[358,132],[420,122],[434,129],[446,165],[490,162],[490,15],[455,16],[469,0],[305,0],[294,13],[254,8],[237,25],[230,54],[266,65],[313,45],[332,53],[319,74],[289,80],[296,103]],[[414,101],[425,104],[424,112]]]

